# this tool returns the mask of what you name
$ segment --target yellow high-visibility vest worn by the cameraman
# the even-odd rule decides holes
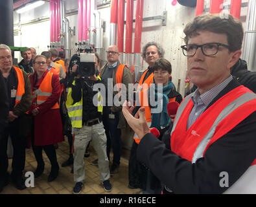
[[[97,76],[97,78],[101,80],[100,76]],[[75,80],[73,81],[72,85],[75,85]],[[76,102],[73,104],[74,100],[71,94],[72,94],[72,87],[69,88],[69,91],[67,93],[67,101],[65,102],[65,105],[67,107],[67,113],[69,114],[72,127],[82,128],[83,96],[79,102]],[[100,95],[100,93],[98,93],[97,96],[98,96],[97,111],[102,113],[103,111],[102,96]]]

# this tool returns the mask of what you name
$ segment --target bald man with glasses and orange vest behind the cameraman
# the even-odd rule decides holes
[[[115,105],[114,97],[121,91],[121,83],[126,87],[126,99],[128,99],[128,84],[132,83],[132,73],[125,66],[119,63],[119,49],[111,45],[106,50],[108,63],[100,71],[100,78],[106,86],[106,106],[103,107],[102,121],[107,136],[107,155],[110,160],[110,149],[113,150],[113,164],[110,174],[114,175],[119,171],[122,143],[121,129],[126,127],[122,115],[122,105]],[[109,84],[110,83],[110,84]],[[113,85],[111,85],[113,84]],[[115,85],[120,90],[114,89]],[[119,96],[119,98],[121,98]]]

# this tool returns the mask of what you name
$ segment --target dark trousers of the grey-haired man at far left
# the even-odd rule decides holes
[[[7,157],[7,143],[8,136],[12,139],[12,146],[14,148],[14,155],[12,157],[12,177],[21,177],[25,167],[25,150],[26,150],[26,137],[22,136],[19,132],[18,118],[10,122],[3,131],[3,136],[0,139],[0,179],[6,177],[8,169]]]

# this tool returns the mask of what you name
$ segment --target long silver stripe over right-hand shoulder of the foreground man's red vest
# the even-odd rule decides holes
[[[220,114],[218,114],[218,117],[216,118],[215,122],[211,126],[211,129],[209,129],[208,133],[201,140],[200,144],[198,144],[198,147],[196,148],[196,151],[194,151],[194,155],[193,155],[193,158],[192,158],[192,163],[196,162],[196,160],[198,158],[203,157],[205,147],[207,146],[207,144],[210,142],[211,138],[215,134],[216,126],[218,124],[220,124],[220,122],[222,120],[224,120],[224,118],[226,118],[230,113],[235,111],[235,109],[237,109],[238,107],[240,107],[244,103],[249,102],[249,101],[251,101],[255,98],[256,98],[256,94],[254,94],[254,93],[245,93],[242,96],[240,96],[239,98],[237,98],[236,100],[233,100],[233,102],[229,103],[229,105],[227,105],[226,108],[223,109],[223,111]]]

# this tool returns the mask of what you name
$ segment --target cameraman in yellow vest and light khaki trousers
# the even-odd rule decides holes
[[[72,60],[71,60],[72,61]],[[71,62],[69,67],[72,67]],[[98,61],[95,56],[95,72],[98,67]],[[82,191],[85,179],[84,171],[84,152],[89,141],[92,141],[93,147],[97,152],[99,161],[100,181],[105,191],[111,191],[110,184],[110,167],[109,160],[106,155],[106,134],[102,124],[102,106],[93,105],[93,96],[97,95],[97,91],[93,91],[93,85],[100,83],[99,76],[94,74],[89,77],[82,77],[78,72],[78,65],[73,65],[72,76],[73,82],[67,94],[67,110],[73,134],[74,141],[74,180],[76,182],[73,193],[78,194]],[[69,80],[70,82],[70,80]]]

